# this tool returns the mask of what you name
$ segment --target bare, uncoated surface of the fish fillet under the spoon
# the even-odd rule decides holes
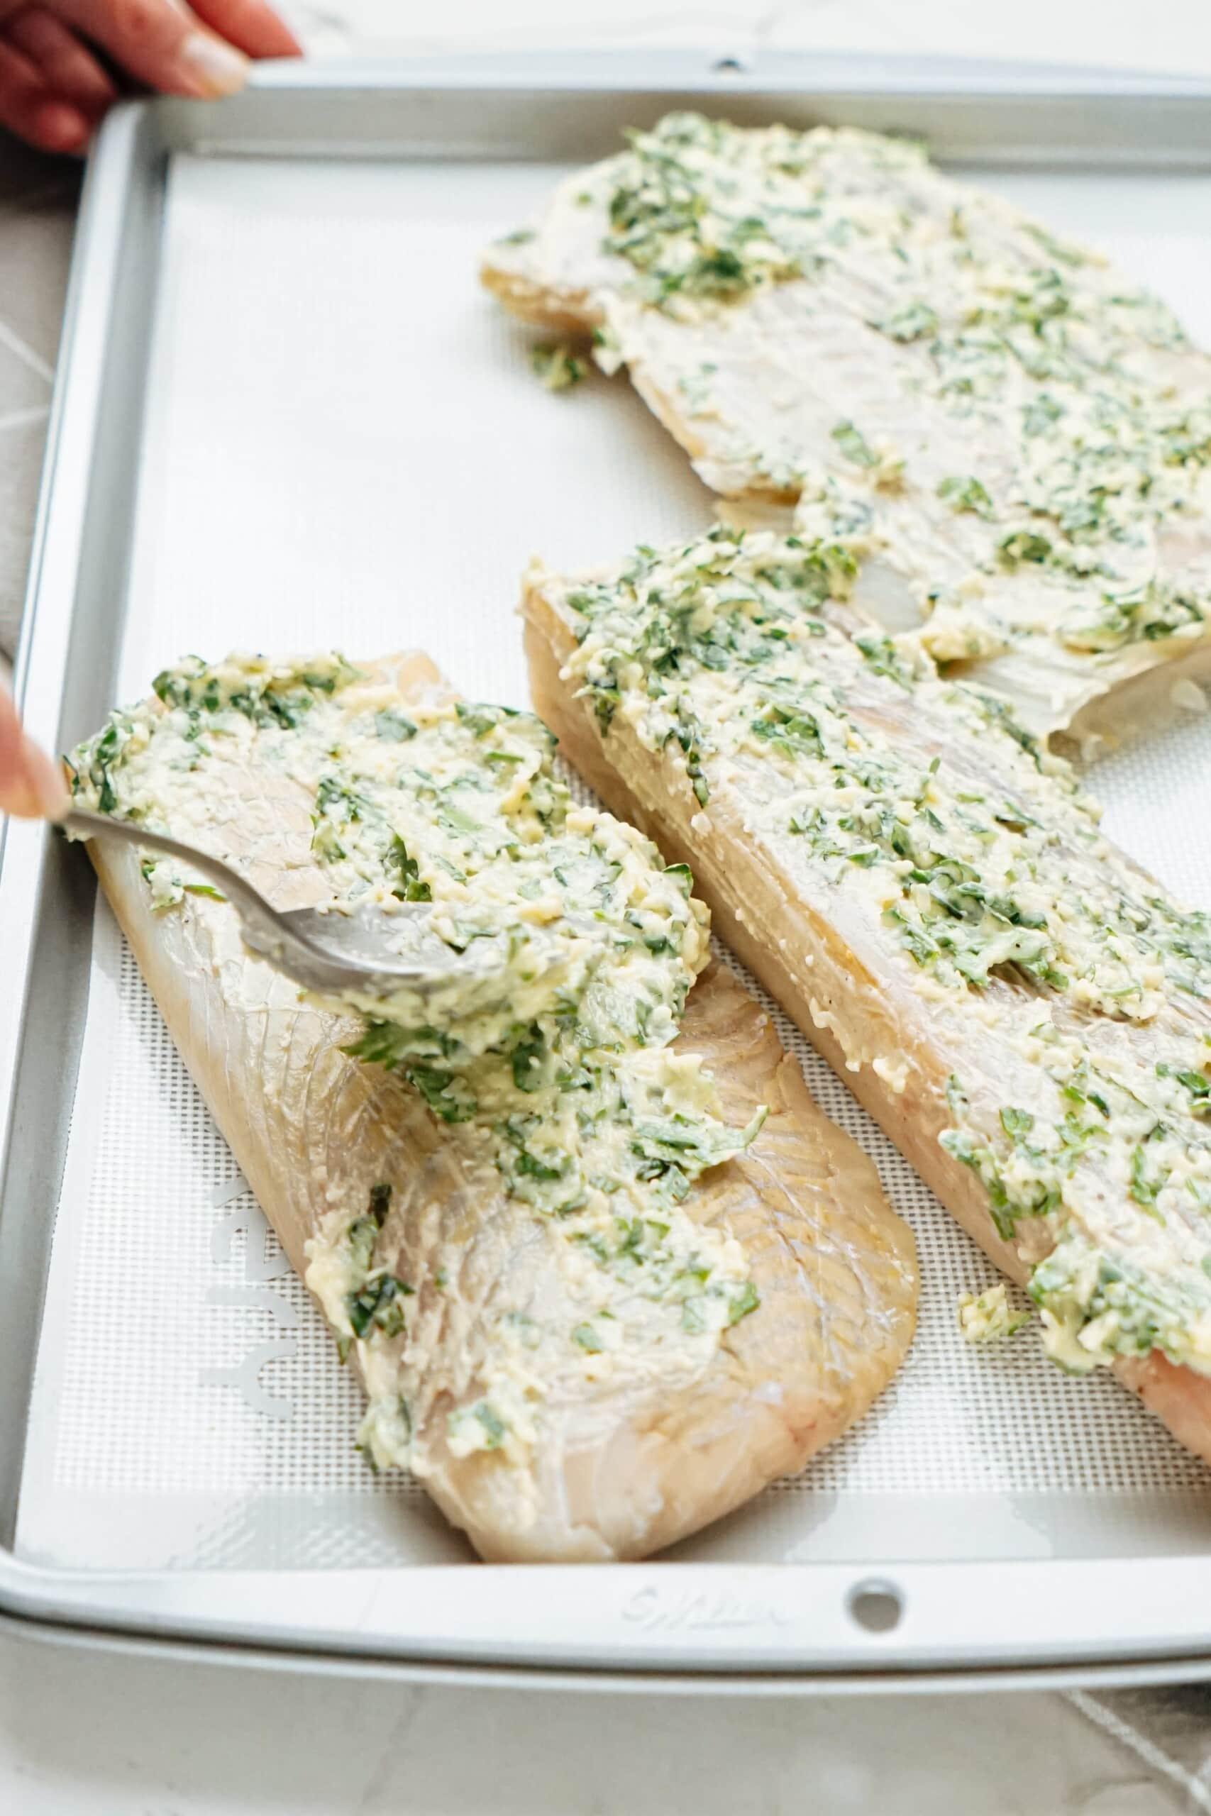
[[[361,668],[392,676],[403,705],[448,696],[421,656]],[[211,795],[214,848],[241,854],[276,906],[314,903],[325,884],[303,857],[310,801],[281,774],[232,765],[229,779],[231,790]],[[801,1469],[899,1367],[915,1324],[911,1235],[873,1164],[810,1099],[768,1015],[712,964],[690,993],[677,1046],[706,1057],[726,1120],[746,1120],[761,1102],[770,1115],[741,1159],[692,1188],[686,1208],[739,1237],[761,1304],[690,1378],[632,1373],[590,1389],[568,1366],[546,1380],[527,1466],[499,1453],[454,1456],[447,1416],[483,1393],[488,1311],[537,1297],[568,1326],[585,1315],[557,1266],[561,1239],[503,1195],[487,1160],[463,1162],[414,1091],[345,1055],[359,1024],[301,1002],[285,977],[247,955],[227,904],[187,897],[156,915],[136,852],[96,841],[89,850],[294,1269],[305,1271],[305,1244],[325,1215],[354,1217],[372,1184],[392,1184],[381,1244],[416,1289],[396,1342],[418,1475],[485,1560],[605,1562],[670,1545]]]

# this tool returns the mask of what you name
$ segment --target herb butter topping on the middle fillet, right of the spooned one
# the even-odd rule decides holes
[[[626,723],[684,772],[699,835],[741,815],[841,930],[879,1004],[848,981],[842,1019],[812,1013],[850,1064],[893,1091],[924,1068],[939,1104],[950,1075],[942,1144],[1033,1268],[1055,1358],[1211,1373],[1211,915],[1102,837],[1000,701],[842,634],[852,574],[768,532],[641,548],[559,597],[566,676],[606,741]],[[888,1026],[924,1039],[890,1053]]]

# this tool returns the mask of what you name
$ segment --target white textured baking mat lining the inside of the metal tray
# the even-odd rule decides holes
[[[617,125],[641,107],[619,100]],[[523,706],[516,599],[532,554],[581,568],[710,521],[625,378],[548,394],[534,336],[478,287],[478,254],[537,207],[561,160],[541,145],[517,162],[378,153],[220,142],[167,160],[142,278],[145,414],[133,403],[129,423],[109,423],[133,481],[123,597],[82,574],[74,612],[93,614],[96,674],[65,739],[180,654],[249,646],[354,659],[423,646],[465,694]],[[971,174],[1144,274],[1211,341],[1206,171]],[[1111,834],[1204,906],[1209,768],[1211,721],[1187,716],[1093,774]],[[91,939],[16,1558],[165,1584],[467,1564],[421,1489],[370,1475],[354,1451],[356,1386],[103,906]],[[1207,1471],[1109,1378],[1064,1378],[1033,1331],[984,1351],[960,1340],[955,1300],[993,1269],[777,1022],[913,1226],[921,1327],[853,1431],[675,1558],[730,1565],[719,1593],[735,1596],[739,1565],[1113,1573],[1211,1551]],[[957,1605],[962,1580],[946,1580]],[[305,1600],[307,1576],[296,1584]]]

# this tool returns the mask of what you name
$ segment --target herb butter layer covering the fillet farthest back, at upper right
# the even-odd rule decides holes
[[[799,498],[804,534],[875,559],[864,608],[995,663],[1033,726],[1209,634],[1211,365],[922,147],[670,114],[512,256],[583,285],[601,361],[710,485]]]

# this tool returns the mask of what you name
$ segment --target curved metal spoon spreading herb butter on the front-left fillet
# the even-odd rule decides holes
[[[64,814],[58,824],[80,839],[118,839],[142,850],[163,852],[165,857],[176,857],[209,877],[240,915],[243,944],[305,990],[320,993],[350,990],[367,997],[389,997],[401,984],[427,992],[505,970],[496,941],[478,939],[465,952],[456,952],[436,933],[428,933],[425,926],[432,913],[428,903],[399,903],[398,910],[367,906],[354,913],[340,910],[321,913],[316,908],[290,908],[281,913],[271,908],[240,872],[207,852],[194,850],[192,844],[182,844],[180,839],[167,839],[145,826],[76,808]],[[401,933],[410,935],[409,950],[403,953]],[[561,948],[554,939],[548,944],[554,964]]]

